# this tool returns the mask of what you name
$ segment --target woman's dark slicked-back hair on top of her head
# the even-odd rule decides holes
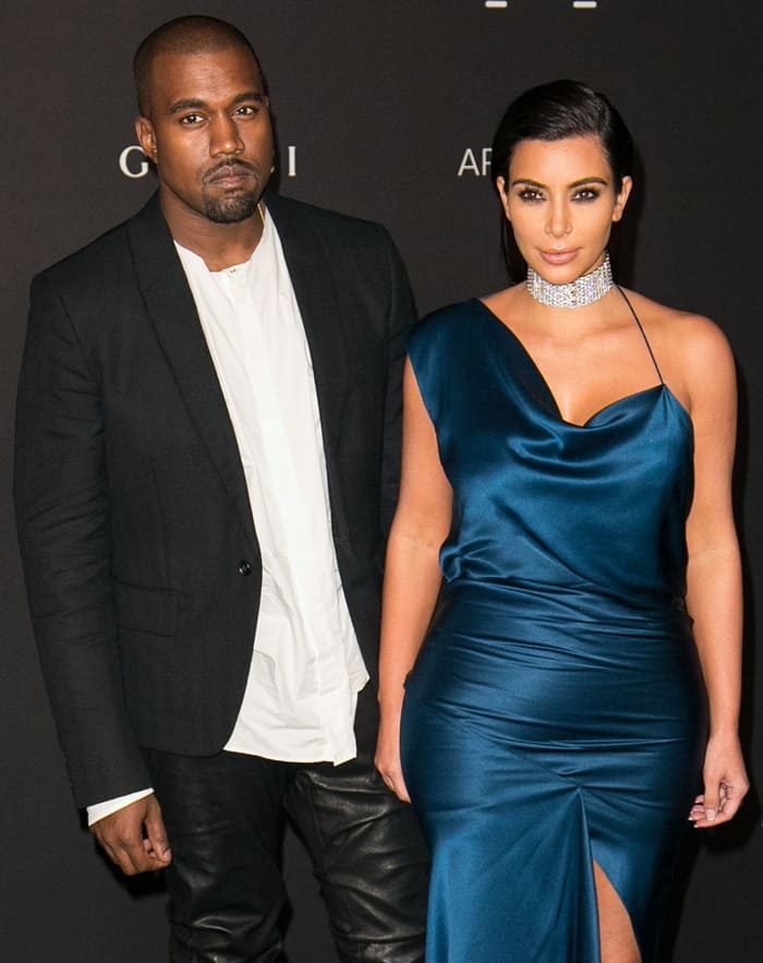
[[[507,177],[522,141],[598,137],[611,167],[615,190],[633,168],[633,142],[625,121],[607,100],[578,81],[553,81],[532,87],[511,104],[493,139],[493,177]]]

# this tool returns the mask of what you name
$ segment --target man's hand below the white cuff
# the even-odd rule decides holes
[[[125,876],[164,869],[172,860],[161,809],[153,793],[94,822],[90,832]]]

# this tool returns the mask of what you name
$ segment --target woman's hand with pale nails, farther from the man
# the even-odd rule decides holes
[[[708,829],[728,822],[750,789],[736,733],[710,737],[703,779],[704,793],[694,799],[689,814],[694,829]]]

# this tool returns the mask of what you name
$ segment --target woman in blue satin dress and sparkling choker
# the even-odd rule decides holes
[[[646,963],[687,816],[748,789],[734,363],[613,284],[605,97],[528,92],[493,165],[528,279],[411,338],[377,766],[432,843],[427,963]]]

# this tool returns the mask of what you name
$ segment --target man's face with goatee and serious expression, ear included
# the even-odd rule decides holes
[[[216,224],[251,217],[272,167],[272,129],[259,68],[237,47],[160,53],[147,112],[135,123],[156,165],[165,213]]]

